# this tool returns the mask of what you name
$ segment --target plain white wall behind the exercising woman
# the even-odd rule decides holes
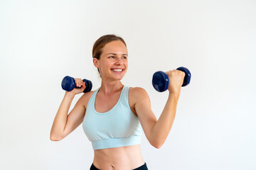
[[[127,42],[122,83],[146,89],[156,118],[168,92],[153,89],[154,72],[183,66],[192,74],[164,145],[142,136],[149,169],[256,169],[255,18],[254,0],[1,0],[0,169],[90,168],[82,126],[59,142],[50,128],[63,77],[100,86],[92,45],[105,34]]]

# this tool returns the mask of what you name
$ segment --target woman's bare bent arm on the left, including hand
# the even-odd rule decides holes
[[[77,79],[76,79],[77,81]],[[78,86],[81,82],[78,80]],[[75,104],[73,110],[68,114],[70,105],[75,97],[75,94],[80,94],[85,89],[85,83],[82,83],[81,89],[73,89],[73,91],[66,91],[63,101],[60,103],[53,126],[50,130],[50,140],[58,141],[66,137],[70,132],[82,123],[85,116],[85,106],[83,105],[83,96]]]

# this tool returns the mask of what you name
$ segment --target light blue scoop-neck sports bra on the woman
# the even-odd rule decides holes
[[[129,107],[129,87],[124,86],[119,101],[110,111],[95,110],[97,89],[87,104],[82,128],[92,142],[92,148],[105,149],[138,145],[141,142],[142,125]]]

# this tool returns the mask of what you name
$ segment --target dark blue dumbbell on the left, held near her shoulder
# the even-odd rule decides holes
[[[85,82],[85,90],[83,91],[84,93],[91,91],[92,90],[92,81],[83,79],[82,81]],[[73,77],[66,76],[63,78],[63,81],[61,82],[61,87],[65,91],[72,91],[74,88],[75,89],[81,89],[82,86],[78,87],[75,86],[75,79]]]

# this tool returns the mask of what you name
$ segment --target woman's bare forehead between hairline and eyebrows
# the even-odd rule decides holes
[[[120,40],[115,40],[112,42],[108,42],[103,47],[103,53],[127,53],[127,47],[124,45],[124,43]]]

